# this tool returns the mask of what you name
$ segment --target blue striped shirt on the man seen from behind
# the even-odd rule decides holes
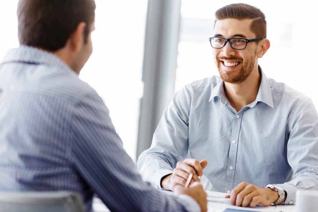
[[[94,194],[111,211],[199,211],[142,181],[102,99],[52,53],[7,53],[0,126],[0,191],[75,191],[87,211]]]

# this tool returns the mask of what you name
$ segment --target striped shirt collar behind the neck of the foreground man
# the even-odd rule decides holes
[[[68,65],[66,65],[66,63],[64,63],[52,52],[44,51],[27,45],[20,45],[18,48],[9,50],[3,58],[1,64],[11,62],[47,65],[52,68],[58,68],[60,70],[76,74]]]

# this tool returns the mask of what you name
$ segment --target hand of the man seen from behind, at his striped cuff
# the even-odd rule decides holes
[[[192,197],[199,204],[202,212],[206,212],[208,210],[208,195],[203,190],[203,186],[199,182],[192,183],[189,188],[177,185],[174,189],[176,194],[185,194]]]

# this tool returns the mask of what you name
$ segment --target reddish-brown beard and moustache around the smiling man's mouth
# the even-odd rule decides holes
[[[240,70],[223,70],[221,66],[220,60],[235,60],[240,61],[241,69]],[[224,82],[239,84],[242,83],[248,76],[250,76],[251,72],[254,69],[256,59],[253,60],[253,57],[248,58],[246,61],[243,61],[242,58],[237,57],[218,57],[217,58],[217,66],[218,71],[220,73],[220,77]]]

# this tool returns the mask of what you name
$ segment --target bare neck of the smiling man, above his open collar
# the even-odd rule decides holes
[[[261,75],[256,66],[251,74],[242,83],[232,84],[225,82],[224,90],[231,106],[239,112],[244,106],[255,101],[259,91]]]

